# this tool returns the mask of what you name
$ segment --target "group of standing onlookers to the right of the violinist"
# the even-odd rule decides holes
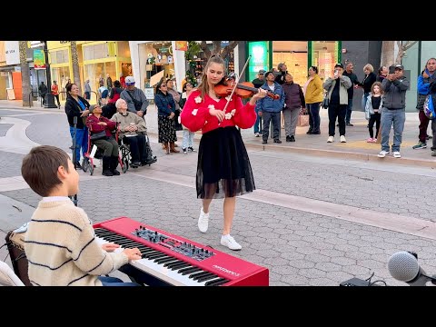
[[[263,144],[268,143],[270,124],[272,124],[273,142],[281,144],[280,128],[281,116],[284,121],[286,142],[295,142],[295,130],[299,116],[309,116],[309,129],[306,134],[321,134],[320,108],[328,110],[328,138],[327,143],[334,142],[336,127],[339,127],[340,142],[346,143],[347,127],[352,127],[352,100],[354,89],[362,88],[362,108],[368,120],[368,143],[381,143],[379,157],[383,158],[391,153],[400,158],[402,132],[405,122],[405,96],[410,81],[404,76],[401,64],[390,67],[381,66],[377,74],[372,64],[363,66],[363,79],[359,81],[353,72],[354,66],[347,62],[334,65],[332,77],[322,78],[318,74],[318,67],[311,66],[308,79],[304,85],[293,82],[292,74],[288,73],[286,64],[278,64],[277,69],[265,71],[261,69],[253,80],[255,87],[261,87],[277,95],[277,99],[265,97],[256,104],[257,120],[253,126],[256,137],[263,138]],[[427,61],[425,69],[418,77],[418,104],[420,117],[419,143],[413,149],[427,147],[427,140],[433,138],[431,155],[436,156],[436,141],[434,135],[427,134],[431,118],[425,114],[425,99],[436,91],[436,59]],[[434,86],[433,86],[434,85]],[[436,93],[436,92],[434,92]],[[375,133],[374,133],[375,124]],[[263,127],[262,127],[263,126]],[[389,134],[393,126],[393,144],[389,145]],[[436,131],[436,124],[431,120],[432,131]],[[434,127],[433,127],[434,126]],[[379,142],[378,142],[379,141]]]

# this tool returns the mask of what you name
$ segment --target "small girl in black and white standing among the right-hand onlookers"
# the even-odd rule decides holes
[[[383,100],[381,96],[382,94],[383,89],[381,88],[381,83],[374,82],[371,87],[371,93],[368,95],[368,99],[365,105],[365,118],[370,121],[370,123],[368,124],[370,138],[366,140],[366,142],[368,143],[377,142],[377,135],[379,134],[380,130],[381,107],[383,105]],[[376,129],[375,137],[373,131],[374,123]]]

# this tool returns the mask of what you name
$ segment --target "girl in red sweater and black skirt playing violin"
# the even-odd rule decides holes
[[[256,121],[255,103],[267,92],[259,89],[243,105],[239,95],[233,94],[230,98],[230,95],[219,97],[215,94],[215,86],[223,82],[223,59],[213,55],[204,68],[201,83],[184,104],[181,120],[190,131],[202,129],[203,132],[196,174],[197,198],[203,199],[198,228],[206,233],[212,199],[224,198],[221,244],[231,250],[241,250],[242,246],[230,235],[235,196],[253,192],[255,186],[248,154],[236,125],[240,128],[253,126]]]

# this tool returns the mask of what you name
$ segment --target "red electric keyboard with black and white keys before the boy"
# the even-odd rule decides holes
[[[139,248],[143,258],[120,271],[133,269],[150,285],[269,285],[267,268],[127,217],[96,223],[94,230],[99,243],[120,244],[118,251]]]

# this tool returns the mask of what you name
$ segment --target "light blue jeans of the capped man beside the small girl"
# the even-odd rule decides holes
[[[392,152],[400,151],[402,131],[406,121],[405,109],[381,109],[381,150],[389,152],[389,134],[393,124]]]

